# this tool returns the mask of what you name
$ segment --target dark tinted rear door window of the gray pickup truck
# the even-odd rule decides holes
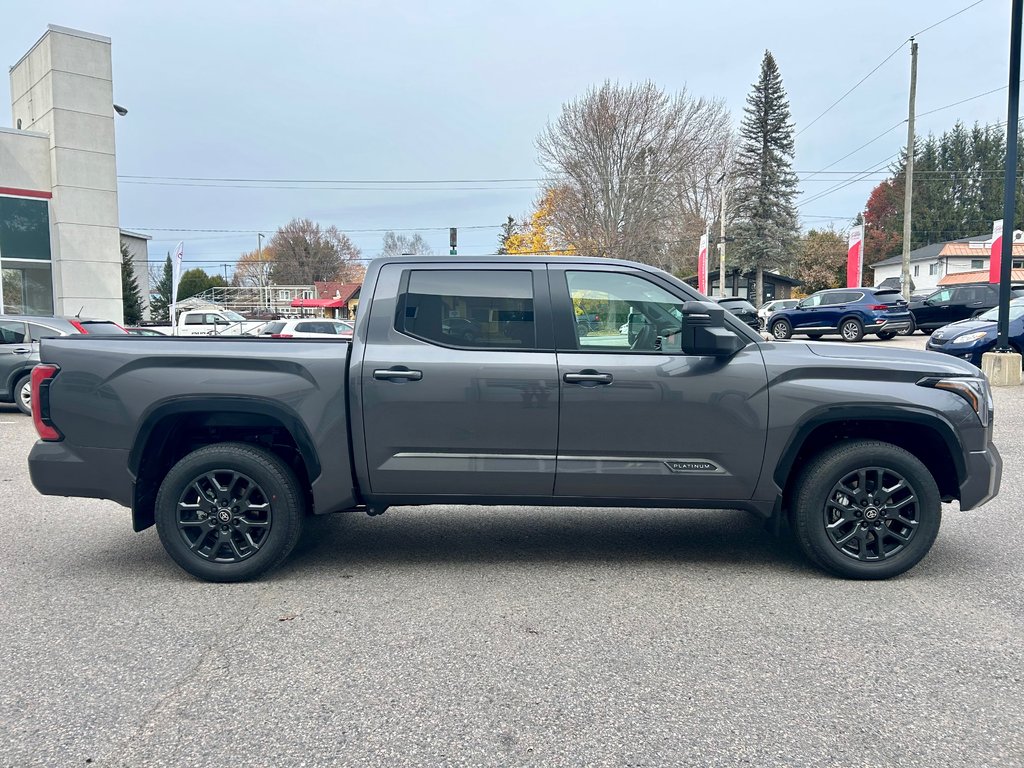
[[[536,349],[534,275],[499,269],[415,269],[395,328],[467,349]]]

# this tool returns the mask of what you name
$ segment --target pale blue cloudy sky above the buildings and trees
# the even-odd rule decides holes
[[[766,49],[798,132],[801,223],[843,228],[906,142],[911,35],[919,135],[1006,121],[1010,8],[0,0],[0,58],[16,62],[47,24],[110,37],[115,101],[128,109],[116,123],[122,228],[153,236],[151,259],[183,241],[186,268],[229,273],[257,232],[294,217],[337,225],[366,257],[386,229],[420,231],[443,253],[450,226],[460,254],[493,253],[506,216],[532,207],[535,140],[563,102],[605,80],[651,80],[721,98],[738,123]],[[0,101],[10,103],[7,79]],[[877,172],[854,175],[865,171]]]

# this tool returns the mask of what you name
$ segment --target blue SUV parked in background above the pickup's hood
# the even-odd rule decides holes
[[[779,309],[769,318],[776,339],[806,334],[820,339],[839,334],[843,341],[860,341],[865,333],[891,339],[913,323],[899,291],[881,288],[833,288],[802,299],[792,309]]]

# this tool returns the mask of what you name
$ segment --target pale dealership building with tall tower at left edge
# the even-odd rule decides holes
[[[0,308],[121,322],[111,41],[51,25],[11,67],[10,86],[13,128],[0,128]],[[146,257],[137,256],[142,284]]]

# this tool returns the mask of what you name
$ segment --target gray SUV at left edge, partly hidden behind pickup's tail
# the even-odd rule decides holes
[[[72,334],[105,333],[101,326],[124,333],[108,321],[79,317],[37,317],[0,314],[0,402],[13,402],[32,414],[32,369],[39,362],[39,340]]]

